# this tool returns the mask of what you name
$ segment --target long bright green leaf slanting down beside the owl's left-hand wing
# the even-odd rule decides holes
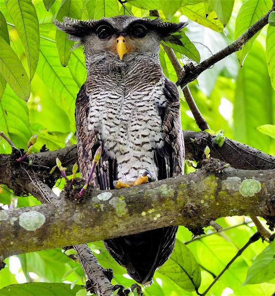
[[[51,91],[56,103],[66,111],[70,119],[71,130],[74,131],[74,105],[79,87],[73,80],[69,69],[60,65],[54,42],[41,39],[37,74]]]

